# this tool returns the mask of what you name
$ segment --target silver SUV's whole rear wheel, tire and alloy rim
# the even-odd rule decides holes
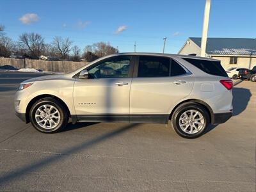
[[[209,125],[209,114],[200,104],[182,104],[173,113],[172,125],[180,136],[198,138]]]

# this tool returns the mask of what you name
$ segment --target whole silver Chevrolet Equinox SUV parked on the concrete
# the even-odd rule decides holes
[[[232,81],[220,61],[152,53],[113,54],[76,72],[28,79],[15,110],[41,132],[68,120],[168,124],[184,138],[232,116]]]

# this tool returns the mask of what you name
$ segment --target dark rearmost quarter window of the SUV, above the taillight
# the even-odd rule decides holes
[[[204,71],[207,74],[211,74],[213,76],[227,77],[227,73],[221,66],[220,61],[198,60],[191,58],[182,59],[188,61],[192,65],[195,65],[195,67],[200,68],[200,70]]]

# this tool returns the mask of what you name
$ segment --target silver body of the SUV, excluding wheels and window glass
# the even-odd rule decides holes
[[[80,72],[84,69],[93,71],[99,63],[108,63],[116,58],[129,60],[129,70],[127,65],[121,66],[121,70],[124,70],[127,76],[79,78]],[[174,75],[169,72],[166,76],[140,77],[141,68],[151,59],[153,64],[157,60],[170,62],[169,71],[173,67]],[[29,111],[35,101],[44,97],[54,97],[65,106],[73,123],[168,124],[175,109],[185,102],[193,102],[200,104],[209,113],[212,124],[225,122],[232,116],[232,91],[227,90],[220,81],[228,81],[228,77],[207,74],[187,61],[191,59],[216,61],[173,54],[125,53],[106,56],[70,74],[44,76],[25,81],[24,83],[32,82],[33,86],[16,93],[15,110],[20,118],[29,122]],[[177,67],[180,74],[175,74],[174,69]],[[104,65],[104,68],[112,70],[108,65]],[[96,72],[94,75],[99,76]],[[147,72],[154,73],[154,68],[147,68]]]

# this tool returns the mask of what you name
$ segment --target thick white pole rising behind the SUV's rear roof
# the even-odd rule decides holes
[[[204,23],[201,38],[201,57],[205,57],[211,0],[205,0]]]

